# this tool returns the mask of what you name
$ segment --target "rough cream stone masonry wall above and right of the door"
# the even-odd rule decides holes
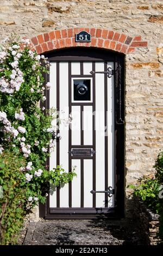
[[[148,42],[126,55],[126,185],[153,172],[163,136],[162,1],[1,0],[0,12],[1,41],[13,32],[33,38],[55,29],[90,27],[140,35]]]

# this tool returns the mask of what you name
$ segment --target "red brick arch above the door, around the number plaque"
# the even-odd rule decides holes
[[[76,42],[75,34],[86,31],[91,34],[91,42]],[[32,39],[38,54],[68,47],[98,47],[124,54],[133,53],[136,47],[147,47],[140,35],[126,35],[100,28],[70,28],[54,30],[34,36]]]

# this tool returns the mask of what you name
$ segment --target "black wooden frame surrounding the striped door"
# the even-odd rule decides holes
[[[71,209],[65,211],[60,208],[60,212],[55,214],[49,208],[49,196],[45,204],[45,218],[47,220],[55,219],[78,219],[78,218],[121,218],[124,217],[124,54],[112,52],[109,50],[98,49],[94,47],[73,47],[62,50],[55,50],[45,55],[49,62],[114,62],[114,88],[115,88],[115,208],[109,211],[95,209],[92,214],[91,208],[87,208],[87,214],[80,211],[79,214],[73,214]],[[45,82],[49,82],[49,74],[45,74]],[[47,101],[43,103],[45,108],[49,108],[49,90],[46,90]],[[57,91],[59,97],[59,90]],[[42,106],[41,106],[42,107]],[[49,166],[49,157],[47,159]],[[59,190],[58,190],[59,191]],[[74,209],[74,208],[73,208]],[[79,209],[78,209],[79,210]],[[90,214],[89,214],[90,212]]]

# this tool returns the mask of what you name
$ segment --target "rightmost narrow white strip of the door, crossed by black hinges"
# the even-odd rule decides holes
[[[108,62],[108,67],[114,69],[114,63]],[[114,76],[108,78],[108,186],[114,188]],[[114,207],[114,195],[109,199],[109,207]]]

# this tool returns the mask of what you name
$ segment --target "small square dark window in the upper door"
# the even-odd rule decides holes
[[[73,100],[90,101],[91,100],[91,80],[74,79],[73,80]]]

